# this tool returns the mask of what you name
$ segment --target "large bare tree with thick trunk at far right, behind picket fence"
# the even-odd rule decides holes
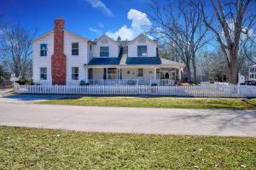
[[[241,34],[248,35],[248,28],[255,20],[255,2],[253,0],[211,0],[210,7],[199,1],[199,11],[206,26],[215,34],[224,54],[228,67],[227,81],[238,82],[238,52]],[[252,10],[250,10],[250,8]],[[213,10],[212,18],[209,11]]]

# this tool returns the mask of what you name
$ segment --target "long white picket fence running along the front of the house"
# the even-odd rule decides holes
[[[256,97],[256,87],[237,85],[150,86],[89,85],[44,86],[15,85],[16,94],[153,95],[177,97],[245,98]]]

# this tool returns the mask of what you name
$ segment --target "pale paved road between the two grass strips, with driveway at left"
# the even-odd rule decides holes
[[[0,126],[108,133],[256,137],[256,111],[37,105],[63,96],[0,97]]]

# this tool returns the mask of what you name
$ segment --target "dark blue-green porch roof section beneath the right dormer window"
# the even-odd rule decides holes
[[[160,65],[159,57],[127,57],[126,65]]]

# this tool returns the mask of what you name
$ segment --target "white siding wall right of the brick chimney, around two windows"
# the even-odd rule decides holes
[[[79,42],[79,55],[72,55],[72,43]],[[87,41],[65,31],[64,33],[64,54],[67,57],[67,84],[79,84],[85,81],[84,64],[87,63]],[[79,67],[79,80],[72,80],[72,67]]]

